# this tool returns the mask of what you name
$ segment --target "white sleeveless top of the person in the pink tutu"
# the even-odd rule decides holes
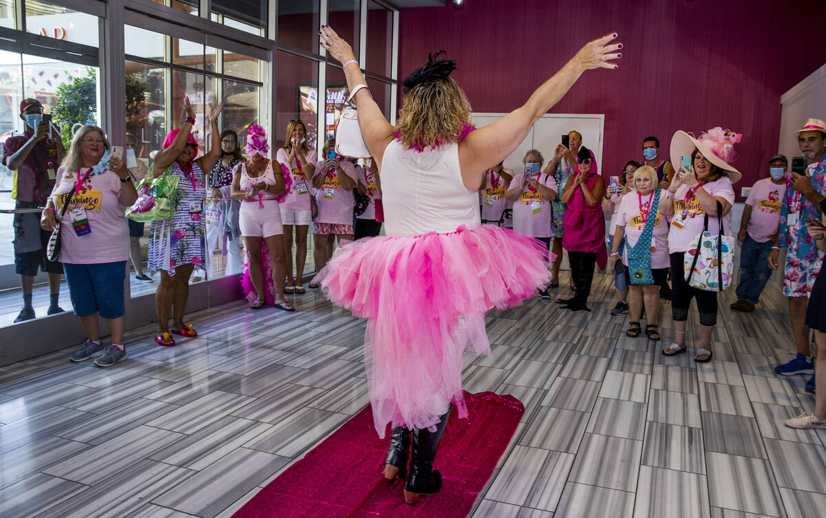
[[[387,236],[451,233],[460,225],[481,224],[479,195],[462,182],[457,143],[418,152],[394,139],[384,150],[381,177]]]

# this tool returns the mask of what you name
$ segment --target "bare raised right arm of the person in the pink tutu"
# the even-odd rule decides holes
[[[582,47],[577,55],[544,82],[528,99],[524,106],[511,111],[501,120],[473,131],[459,144],[459,165],[466,185],[478,174],[493,167],[513,153],[522,143],[534,122],[555,105],[586,70],[593,68],[617,68],[610,63],[622,54],[615,54],[622,44],[608,45],[616,34],[606,35]],[[552,161],[553,162],[553,161]],[[466,173],[468,177],[466,177]]]

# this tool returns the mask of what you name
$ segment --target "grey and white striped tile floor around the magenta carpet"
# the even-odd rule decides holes
[[[805,377],[773,372],[794,352],[786,301],[770,284],[742,314],[732,297],[706,365],[660,355],[667,302],[661,342],[626,337],[607,275],[591,313],[491,312],[492,356],[466,353],[465,388],[510,393],[525,415],[470,516],[823,516],[826,433],[782,426],[814,405]],[[71,350],[0,367],[0,516],[231,516],[368,403],[365,323],[318,291],[294,301],[192,314],[200,336],[169,349],[131,331],[108,370]]]

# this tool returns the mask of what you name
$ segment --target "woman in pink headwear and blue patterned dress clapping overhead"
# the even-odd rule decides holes
[[[152,174],[159,177],[167,167],[178,181],[178,205],[173,219],[154,221],[150,228],[149,267],[150,273],[160,271],[160,284],[155,292],[155,310],[158,312],[160,332],[155,341],[159,346],[174,346],[172,334],[182,337],[197,337],[192,324],[183,323],[183,308],[189,297],[189,277],[196,268],[206,275],[207,228],[202,218],[207,189],[204,171],[211,170],[221,158],[221,131],[218,130],[218,115],[221,105],[213,108],[209,115],[212,132],[212,147],[209,153],[195,158],[198,143],[192,136],[195,124],[195,109],[184,97],[187,118],[179,130],[172,130],[164,139],[164,149],[155,155]],[[173,327],[169,329],[169,310],[172,310]],[[170,332],[172,334],[170,334]]]

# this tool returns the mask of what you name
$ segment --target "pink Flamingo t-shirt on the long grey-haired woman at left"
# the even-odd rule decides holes
[[[83,178],[90,171],[89,167],[82,168],[80,177]],[[78,172],[66,172],[64,167],[58,168],[57,181],[51,195],[56,218],[60,219],[63,202],[68,197],[64,193],[73,192],[76,181]],[[90,172],[85,178],[83,193],[72,196],[69,210],[61,219],[60,262],[88,265],[129,259],[129,225],[124,215],[126,210],[119,199],[121,185],[121,179],[108,170],[99,175]],[[86,209],[86,219],[92,232],[82,236],[74,232],[69,214],[74,205],[83,205]]]

